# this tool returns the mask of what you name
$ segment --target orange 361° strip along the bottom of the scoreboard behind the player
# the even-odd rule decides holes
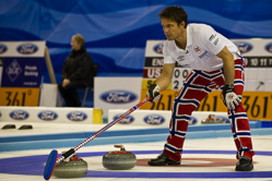
[[[142,90],[141,98],[145,98],[147,90]],[[140,109],[149,110],[172,110],[173,100],[179,90],[164,90],[157,101],[143,105]],[[250,120],[272,120],[272,92],[244,92],[243,107]],[[222,93],[213,90],[199,105],[196,111],[225,111]]]

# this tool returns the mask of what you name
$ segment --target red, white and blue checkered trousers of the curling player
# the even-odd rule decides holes
[[[245,62],[243,57],[239,56],[238,59],[235,60],[234,89],[240,99],[245,81],[244,68]],[[200,101],[205,98],[216,85],[221,88],[225,85],[223,69],[214,72],[193,70],[186,79],[179,95],[174,100],[169,124],[170,134],[164,146],[164,152],[170,159],[176,161],[181,160],[181,153],[190,116],[192,111],[197,109]],[[252,159],[255,152],[252,150],[248,117],[243,108],[243,102],[240,102],[235,111],[228,110],[228,118],[235,145],[237,147],[237,159],[240,156],[247,156]]]

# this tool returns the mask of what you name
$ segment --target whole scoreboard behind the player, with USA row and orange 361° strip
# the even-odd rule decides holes
[[[163,70],[163,46],[165,40],[147,40],[143,71],[142,94],[144,98],[151,84]],[[232,39],[245,56],[244,108],[250,120],[272,120],[272,39]],[[159,100],[145,104],[140,109],[172,110],[173,100],[178,95],[190,68],[176,64],[170,85],[161,92]],[[197,111],[227,111],[217,87],[203,99]]]

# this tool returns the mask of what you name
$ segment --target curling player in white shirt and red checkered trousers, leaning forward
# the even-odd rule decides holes
[[[172,82],[175,63],[192,68],[179,95],[175,98],[169,135],[164,150],[151,159],[151,166],[180,165],[182,146],[192,111],[213,88],[221,87],[223,101],[228,108],[236,157],[236,171],[253,169],[250,128],[243,108],[241,94],[245,81],[245,61],[237,47],[226,37],[205,24],[187,24],[188,15],[179,7],[167,7],[158,14],[167,40],[164,43],[164,67],[146,96],[150,101],[159,98],[159,92]]]

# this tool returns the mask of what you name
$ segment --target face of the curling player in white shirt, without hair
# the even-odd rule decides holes
[[[181,36],[181,33],[185,29],[182,23],[178,26],[177,22],[168,19],[162,19],[161,21],[164,34],[168,40],[174,40]]]

